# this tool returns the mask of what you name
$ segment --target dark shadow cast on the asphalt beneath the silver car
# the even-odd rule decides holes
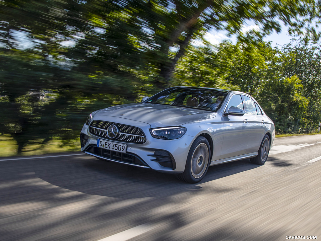
[[[65,161],[47,163],[46,168],[37,168],[37,177],[53,185],[92,195],[132,199],[142,197],[167,197],[179,192],[198,192],[202,183],[244,172],[258,165],[249,160],[211,166],[200,183],[189,184],[176,179],[175,175],[156,172],[134,166],[104,162],[95,158],[85,161],[73,158],[71,165]],[[220,186],[212,185],[211,192],[230,192]]]

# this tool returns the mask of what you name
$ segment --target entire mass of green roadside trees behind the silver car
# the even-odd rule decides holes
[[[314,0],[2,0],[0,132],[18,153],[35,140],[68,145],[91,111],[174,85],[240,89],[262,101],[281,132],[312,130],[321,113],[320,56],[309,45],[319,37],[310,23],[319,14]],[[243,33],[247,21],[261,31]],[[282,49],[262,41],[280,22],[304,39]],[[236,34],[238,43],[212,46],[203,39],[211,29]],[[273,99],[282,90],[293,97],[287,112],[289,102]]]

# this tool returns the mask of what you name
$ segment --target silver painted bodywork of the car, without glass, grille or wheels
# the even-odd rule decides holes
[[[101,109],[92,113],[93,121],[108,121],[111,123],[133,126],[141,129],[146,137],[142,144],[125,143],[126,154],[141,158],[143,165],[115,159],[88,151],[96,147],[101,138],[90,131],[90,125],[84,124],[81,135],[88,138],[82,141],[81,151],[92,156],[128,165],[152,168],[159,172],[178,174],[185,170],[186,160],[192,143],[198,136],[209,140],[211,147],[210,165],[246,159],[258,155],[263,137],[270,138],[270,148],[274,140],[274,124],[263,112],[262,115],[244,114],[242,116],[224,115],[230,98],[235,94],[249,96],[237,91],[225,91],[226,97],[216,112],[189,107],[177,107],[162,104],[132,103]],[[253,99],[253,98],[252,98]],[[258,105],[258,103],[255,101]],[[259,105],[258,105],[259,106]],[[178,139],[164,140],[152,137],[150,129],[160,127],[180,126],[187,129]],[[82,136],[81,136],[82,138]],[[110,139],[109,139],[110,140]],[[122,141],[111,140],[115,143]],[[155,160],[155,150],[166,150],[174,159],[172,167],[161,165]],[[159,160],[159,159],[158,159]]]

